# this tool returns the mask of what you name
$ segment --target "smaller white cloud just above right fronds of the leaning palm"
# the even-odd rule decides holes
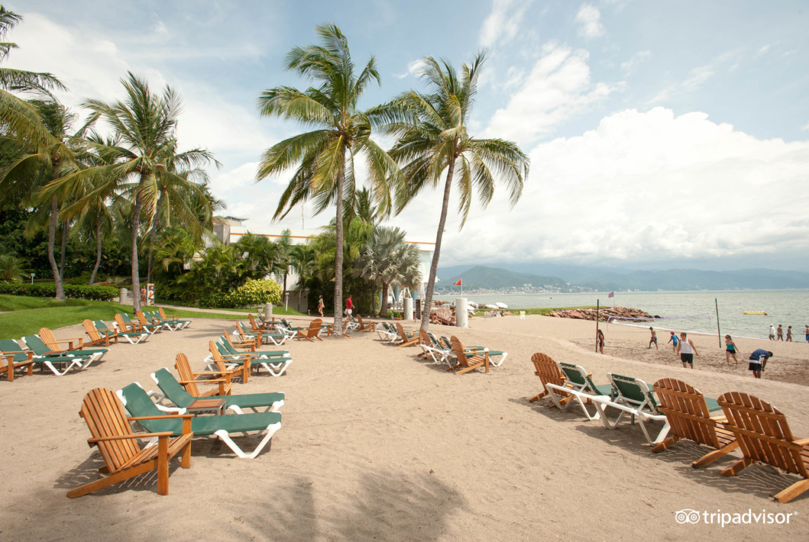
[[[514,75],[514,74],[512,74]],[[510,81],[511,85],[518,84]],[[535,141],[559,124],[594,106],[616,86],[590,82],[587,52],[546,44],[543,57],[521,82],[506,107],[492,116],[486,137]]]

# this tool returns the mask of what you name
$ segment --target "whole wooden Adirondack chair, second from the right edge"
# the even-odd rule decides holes
[[[712,463],[739,447],[733,433],[723,425],[726,419],[718,414],[717,410],[721,407],[714,399],[707,399],[698,389],[673,378],[655,382],[654,392],[660,403],[658,410],[666,415],[671,431],[667,439],[652,448],[652,452],[663,452],[680,439],[693,440],[715,448],[713,452],[691,464],[697,468]],[[712,413],[715,414],[714,417],[711,417]]]

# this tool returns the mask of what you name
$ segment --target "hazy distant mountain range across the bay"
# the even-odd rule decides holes
[[[544,274],[548,272],[552,275]],[[512,263],[503,264],[502,267],[455,266],[438,269],[438,278],[442,281],[439,283],[441,288],[450,287],[460,277],[464,278],[464,288],[487,290],[520,288],[524,284],[557,292],[809,288],[809,273],[773,269],[633,271],[614,267],[606,270],[547,263]]]

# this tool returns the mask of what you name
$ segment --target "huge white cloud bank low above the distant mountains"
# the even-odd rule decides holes
[[[766,267],[779,250],[809,250],[809,141],[760,140],[705,113],[655,107],[616,112],[530,155],[519,204],[510,209],[501,187],[492,220],[458,233],[451,219],[441,265],[473,252],[481,263],[748,255]]]

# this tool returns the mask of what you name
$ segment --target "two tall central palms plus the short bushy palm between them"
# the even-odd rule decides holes
[[[381,84],[376,60],[371,57],[362,70],[351,60],[347,38],[333,24],[316,27],[320,44],[294,47],[286,56],[286,69],[311,82],[306,90],[276,86],[261,93],[261,116],[293,120],[310,131],[290,137],[267,149],[261,157],[258,180],[292,170],[292,177],[278,202],[276,217],[286,216],[294,205],[312,200],[316,213],[329,205],[336,208],[334,225],[334,304],[342,305],[346,237],[344,206],[355,204],[358,179],[355,158],[363,158],[368,170],[366,192],[376,207],[375,216],[398,215],[413,197],[427,187],[437,187],[443,178],[443,204],[426,288],[426,306],[432,303],[438,258],[447,221],[451,187],[459,191],[461,228],[468,217],[473,194],[485,207],[493,198],[496,180],[506,184],[510,203],[522,194],[529,160],[519,146],[501,139],[479,139],[468,132],[477,82],[485,52],[460,74],[448,61],[426,57],[421,79],[427,91],[409,90],[389,103],[362,110],[359,101],[371,82]],[[396,138],[392,149],[384,150],[371,139],[373,130]],[[446,174],[445,174],[446,172]],[[349,219],[354,216],[349,211]],[[349,225],[351,221],[349,220]],[[358,275],[372,283],[407,282],[396,271],[396,263],[379,257],[378,250],[401,237],[397,230],[373,233],[362,251]],[[402,252],[400,258],[409,258]],[[387,300],[387,296],[383,296]],[[422,312],[426,329],[430,311]],[[340,311],[335,329],[341,327]]]

